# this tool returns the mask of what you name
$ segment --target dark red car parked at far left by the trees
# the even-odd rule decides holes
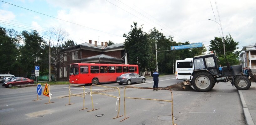
[[[4,82],[2,86],[13,87],[16,85],[24,85],[24,84],[34,84],[34,80],[31,80],[29,78],[17,78],[10,82]]]

